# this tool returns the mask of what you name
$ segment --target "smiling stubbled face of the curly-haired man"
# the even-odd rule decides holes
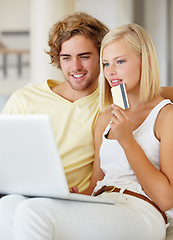
[[[100,73],[99,53],[92,40],[76,35],[61,44],[62,73],[76,91],[95,90]]]

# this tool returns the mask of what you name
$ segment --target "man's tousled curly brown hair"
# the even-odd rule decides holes
[[[98,52],[100,52],[102,39],[108,32],[109,29],[96,18],[83,12],[76,12],[66,16],[62,21],[58,21],[51,27],[48,40],[50,50],[46,53],[51,58],[51,64],[61,68],[60,52],[63,42],[81,34],[91,39]]]

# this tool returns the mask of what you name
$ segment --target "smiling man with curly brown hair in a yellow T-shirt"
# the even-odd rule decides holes
[[[98,109],[100,44],[108,28],[85,13],[55,23],[49,32],[51,63],[65,82],[48,80],[16,91],[2,114],[50,116],[69,188],[89,185],[94,158],[93,131]],[[172,97],[165,88],[164,96]],[[170,90],[169,90],[170,91]]]

